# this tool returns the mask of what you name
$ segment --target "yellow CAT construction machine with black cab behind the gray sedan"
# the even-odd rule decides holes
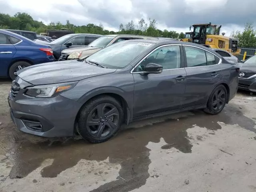
[[[234,56],[240,54],[241,50],[237,47],[237,39],[226,37],[224,36],[225,33],[222,33],[222,35],[220,35],[221,25],[218,28],[217,25],[211,23],[194,24],[192,26],[194,27],[193,32],[186,32],[186,34],[191,33],[190,38],[184,38],[182,39],[182,41],[202,44],[210,48],[223,49],[230,52]]]

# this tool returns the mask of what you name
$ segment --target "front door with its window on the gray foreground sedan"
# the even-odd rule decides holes
[[[186,87],[186,71],[182,46],[161,46],[133,71],[134,117],[178,109]],[[160,74],[141,75],[148,63],[163,66]]]

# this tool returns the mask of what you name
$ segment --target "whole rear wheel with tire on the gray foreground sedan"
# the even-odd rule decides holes
[[[212,115],[219,114],[223,110],[227,99],[228,92],[226,87],[224,85],[218,85],[212,91],[204,112]]]

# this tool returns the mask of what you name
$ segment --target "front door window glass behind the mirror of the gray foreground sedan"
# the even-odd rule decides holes
[[[134,72],[143,72],[149,63],[159,64],[166,69],[180,68],[180,46],[164,46],[152,52],[135,69]]]

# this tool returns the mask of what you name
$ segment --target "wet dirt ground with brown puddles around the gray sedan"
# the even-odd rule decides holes
[[[0,80],[0,192],[256,192],[256,94],[132,123],[108,142],[18,131]]]

